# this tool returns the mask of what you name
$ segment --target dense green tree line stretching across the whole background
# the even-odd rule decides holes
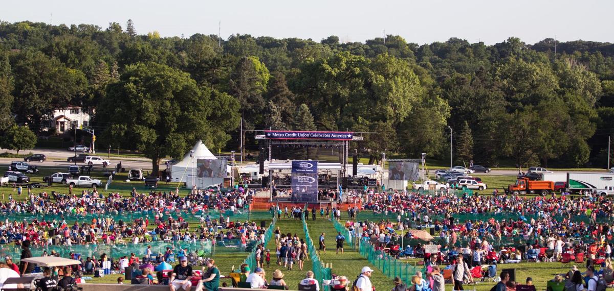
[[[558,43],[555,54],[553,39],[341,43],[137,28],[0,22],[0,130],[45,134],[53,108],[79,105],[94,113],[99,145],[143,151],[154,168],[198,138],[238,148],[241,118],[244,129],[376,132],[355,145],[373,155],[449,159],[450,126],[459,163],[607,162],[610,43]]]

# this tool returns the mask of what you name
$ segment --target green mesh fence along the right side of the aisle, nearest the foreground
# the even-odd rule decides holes
[[[376,251],[367,241],[359,241],[359,252],[360,255],[365,257],[365,259],[378,268],[379,271],[391,279],[398,277],[401,278],[403,282],[411,282],[411,277],[416,274],[416,271],[423,271],[423,273],[426,274],[424,267],[400,262],[386,252]]]

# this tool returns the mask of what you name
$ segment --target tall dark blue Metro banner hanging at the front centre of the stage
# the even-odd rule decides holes
[[[317,161],[292,161],[292,202],[317,202]]]

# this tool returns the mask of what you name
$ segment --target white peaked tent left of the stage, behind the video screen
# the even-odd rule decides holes
[[[197,178],[196,160],[198,159],[217,159],[201,140],[196,142],[192,151],[188,151],[181,161],[171,165],[171,179],[173,182],[185,182],[187,187],[191,188],[193,185],[196,185],[196,187],[201,189],[223,182],[223,178]]]

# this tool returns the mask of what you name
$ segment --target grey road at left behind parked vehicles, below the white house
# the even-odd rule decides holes
[[[0,152],[9,152],[9,153],[17,153],[15,151],[10,151],[8,149],[0,149]],[[28,153],[30,151],[21,151],[21,154],[24,152]],[[74,156],[73,152],[66,151],[63,149],[33,149],[31,150],[33,154],[44,154],[47,156],[47,161],[39,163],[39,162],[31,162],[33,165],[40,165],[42,167],[51,167],[65,170],[69,165],[74,165],[74,163],[69,163],[66,161],[68,157]],[[98,154],[92,154],[92,156],[98,156]],[[101,153],[99,155],[103,157],[103,159],[107,159],[107,155],[105,153]],[[150,159],[142,158],[142,157],[111,157],[109,159],[111,161],[111,167],[115,167],[117,163],[122,162],[122,167],[129,170],[131,168],[142,168],[142,169],[151,169],[152,162]],[[2,157],[0,158],[0,165],[10,165],[12,161],[23,161],[23,159],[10,158],[10,157]],[[166,160],[163,160],[165,162]],[[83,163],[77,162],[77,165],[83,165]],[[165,168],[165,165],[162,164],[161,168]]]

